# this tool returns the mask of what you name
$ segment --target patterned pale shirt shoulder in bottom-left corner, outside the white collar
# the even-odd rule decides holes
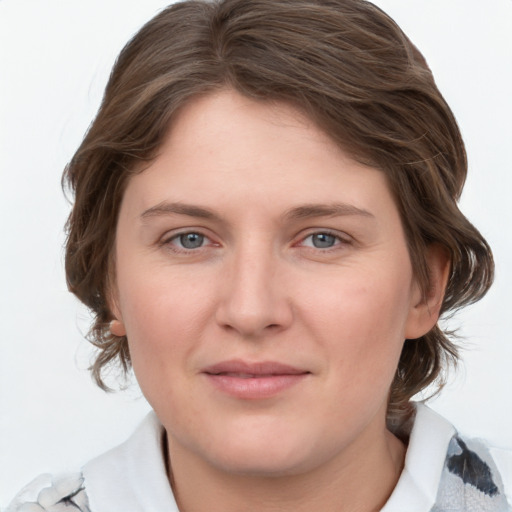
[[[90,512],[81,473],[40,475],[26,485],[5,512]]]

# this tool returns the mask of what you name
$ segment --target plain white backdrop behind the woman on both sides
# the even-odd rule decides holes
[[[88,313],[67,292],[60,175],[113,61],[162,0],[0,0],[0,504],[37,474],[78,469],[148,410],[86,368]],[[491,243],[493,290],[459,314],[464,365],[432,407],[512,446],[512,1],[378,0],[425,54],[467,143],[462,209]]]

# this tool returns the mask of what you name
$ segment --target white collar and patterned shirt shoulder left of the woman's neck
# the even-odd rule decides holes
[[[121,445],[80,473],[41,475],[2,512],[178,512],[164,460],[164,430],[154,413]]]

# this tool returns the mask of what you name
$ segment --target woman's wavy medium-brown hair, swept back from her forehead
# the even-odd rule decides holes
[[[425,59],[396,23],[363,0],[184,1],[163,10],[126,45],[99,112],[67,166],[69,289],[94,313],[92,374],[126,371],[125,337],[110,333],[117,217],[127,181],[151,161],[177,110],[221,88],[299,108],[360,162],[381,169],[395,195],[416,279],[445,248],[451,272],[442,313],[475,302],[493,279],[492,254],[462,215],[466,177],[455,118]],[[179,314],[179,312],[177,312]],[[456,346],[439,326],[406,340],[390,392],[389,418],[442,381]]]

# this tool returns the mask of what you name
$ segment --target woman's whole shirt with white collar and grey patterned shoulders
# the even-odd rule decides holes
[[[179,512],[163,443],[164,429],[151,412],[125,443],[80,473],[39,477],[6,512]],[[416,404],[404,469],[381,512],[512,511],[505,487],[512,483],[512,455],[495,453],[462,439],[449,422]]]

